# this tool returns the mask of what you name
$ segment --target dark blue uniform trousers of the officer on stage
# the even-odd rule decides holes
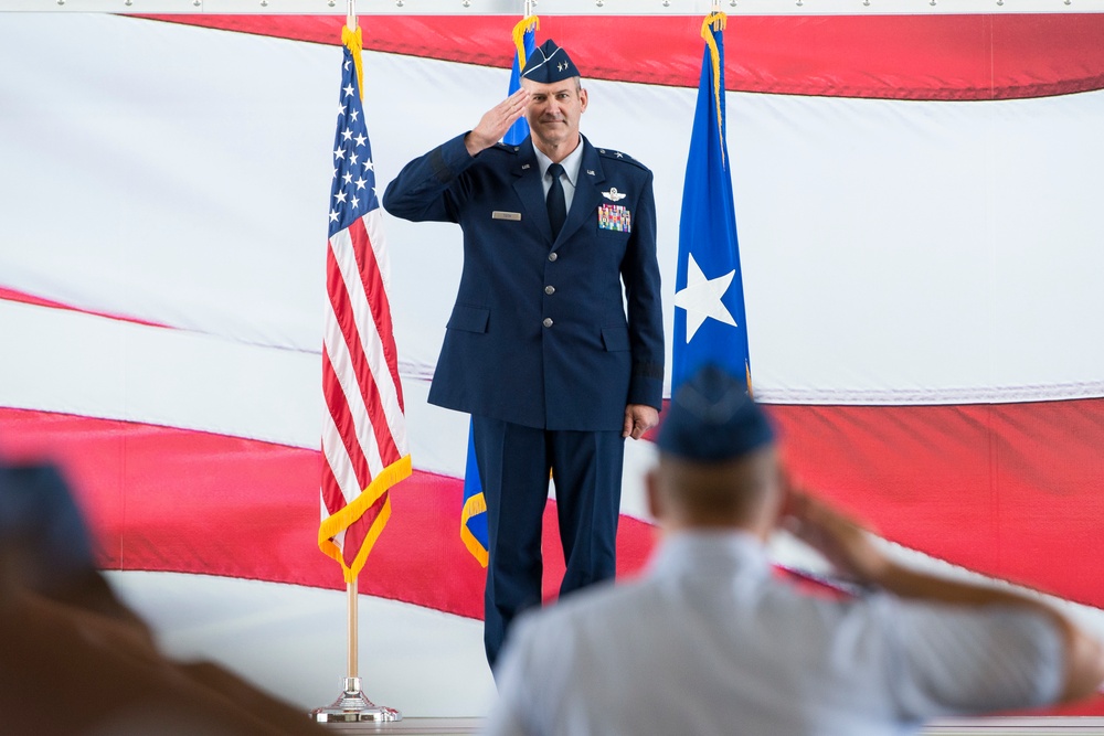
[[[560,595],[614,577],[625,440],[620,431],[537,429],[479,416],[471,426],[487,500],[484,643],[493,669],[510,623],[541,605],[550,472],[565,563]]]

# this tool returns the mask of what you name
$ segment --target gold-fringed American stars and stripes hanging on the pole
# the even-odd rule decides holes
[[[361,100],[361,31],[344,28],[330,186],[322,338],[322,523],[318,546],[347,583],[391,515],[389,489],[411,474],[399,360],[388,300],[372,148]]]

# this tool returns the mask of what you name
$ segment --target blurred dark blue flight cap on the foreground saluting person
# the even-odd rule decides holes
[[[722,462],[774,439],[771,420],[747,395],[746,380],[705,365],[671,397],[656,445],[686,460]]]

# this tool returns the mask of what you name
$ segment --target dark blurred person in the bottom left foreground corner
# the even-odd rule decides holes
[[[173,662],[94,567],[61,476],[0,466],[0,733],[319,734],[307,714],[210,663]]]

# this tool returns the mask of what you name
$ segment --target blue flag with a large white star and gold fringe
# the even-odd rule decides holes
[[[705,51],[690,134],[675,277],[671,392],[704,363],[744,375],[751,388],[731,160],[725,142],[724,13],[702,22]]]

